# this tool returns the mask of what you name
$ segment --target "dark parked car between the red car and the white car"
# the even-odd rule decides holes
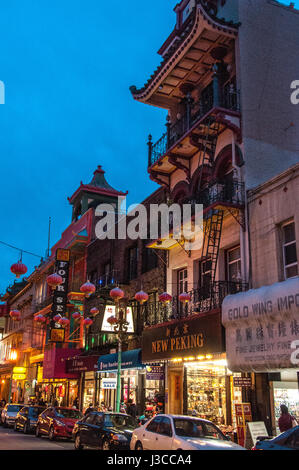
[[[129,450],[137,420],[124,413],[91,412],[75,424],[75,449]]]

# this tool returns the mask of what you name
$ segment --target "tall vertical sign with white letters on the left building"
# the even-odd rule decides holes
[[[56,251],[56,264],[55,272],[62,277],[63,281],[60,286],[57,286],[53,294],[51,323],[50,323],[50,338],[52,342],[64,341],[64,328],[55,323],[53,318],[56,315],[65,316],[67,311],[67,294],[68,294],[68,280],[69,280],[69,265],[70,265],[70,250],[58,248]]]

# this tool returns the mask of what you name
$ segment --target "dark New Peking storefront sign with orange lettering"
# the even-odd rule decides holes
[[[224,352],[219,314],[192,317],[142,333],[142,361]]]

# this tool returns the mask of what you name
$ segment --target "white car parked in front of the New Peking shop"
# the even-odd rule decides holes
[[[210,421],[159,414],[133,431],[131,450],[246,450]]]

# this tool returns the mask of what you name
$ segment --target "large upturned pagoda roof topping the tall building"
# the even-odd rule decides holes
[[[196,6],[193,8],[188,20],[185,21],[181,29],[175,28],[172,31],[159,50],[159,53],[163,55],[163,60],[158,68],[142,88],[138,89],[136,86],[130,87],[134,99],[149,102],[150,98],[156,94],[156,98],[152,99],[151,104],[167,108],[169,104],[167,98],[176,87],[178,81],[183,78],[183,70],[192,70],[194,65],[194,56],[192,57],[194,51],[188,54],[190,48],[195,45],[195,52],[196,50],[201,51],[201,48],[198,47],[201,35],[203,35],[203,44],[205,44],[206,40],[212,41],[211,37],[204,36],[205,31],[216,33],[215,38],[218,37],[218,40],[221,40],[219,38],[220,35],[230,40],[237,37],[240,23],[227,21],[224,18],[219,19],[213,14],[213,10],[207,11],[208,3],[203,2],[203,0],[196,0]],[[217,45],[216,39],[214,45]],[[201,52],[206,51],[203,50]],[[183,67],[182,70],[180,65]],[[171,74],[172,76],[169,77]],[[197,80],[199,78],[198,76]],[[165,106],[163,106],[163,103]]]

